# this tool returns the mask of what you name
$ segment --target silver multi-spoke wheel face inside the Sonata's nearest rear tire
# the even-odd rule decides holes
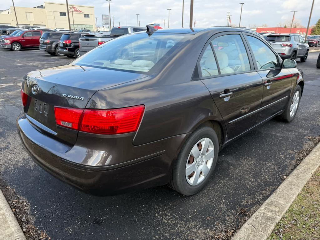
[[[186,180],[196,186],[209,174],[213,163],[214,146],[209,138],[199,140],[191,149],[186,163]]]

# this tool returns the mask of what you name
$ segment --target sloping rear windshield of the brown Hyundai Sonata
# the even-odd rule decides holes
[[[187,38],[182,34],[146,33],[115,38],[75,60],[76,65],[148,72],[161,64]]]

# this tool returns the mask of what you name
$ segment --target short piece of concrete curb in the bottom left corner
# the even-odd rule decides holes
[[[0,190],[0,239],[26,239],[7,200]]]

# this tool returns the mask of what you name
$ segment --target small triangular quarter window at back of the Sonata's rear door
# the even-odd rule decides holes
[[[201,74],[203,77],[219,75],[216,60],[214,58],[211,44],[207,46],[200,60]]]

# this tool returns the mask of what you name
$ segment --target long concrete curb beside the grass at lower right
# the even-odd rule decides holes
[[[232,239],[267,239],[319,166],[320,143],[244,223]]]

